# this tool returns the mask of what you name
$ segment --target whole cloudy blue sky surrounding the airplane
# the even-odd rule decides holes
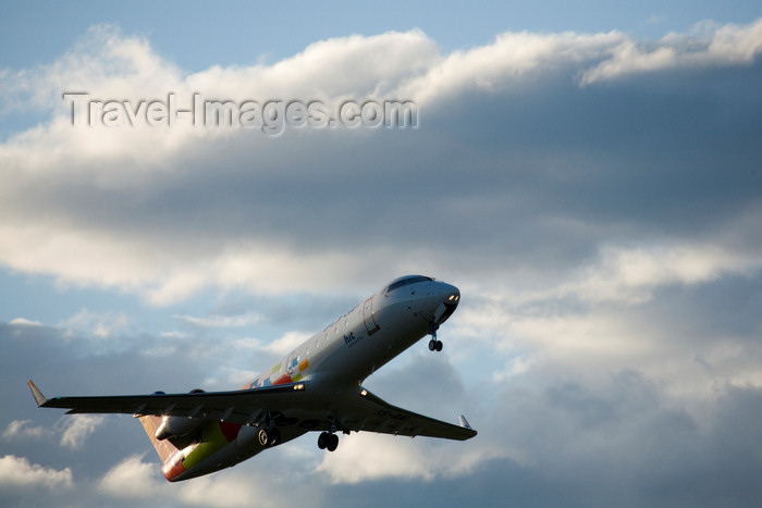
[[[1,504],[762,499],[759,2],[3,11]],[[169,484],[131,417],[26,386],[238,387],[411,273],[460,288],[444,350],[365,385],[465,443]]]

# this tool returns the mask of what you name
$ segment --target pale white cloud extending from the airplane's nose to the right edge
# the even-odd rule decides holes
[[[462,365],[488,369],[484,381],[512,384],[536,375],[590,381],[602,372],[632,370],[665,383],[665,393],[683,401],[712,400],[721,386],[759,387],[758,344],[704,330],[687,311],[676,319],[657,310],[672,301],[661,296],[665,288],[683,295],[730,277],[757,280],[762,258],[739,241],[748,233],[741,228],[739,237],[714,244],[607,246],[566,280],[532,290],[512,290],[509,282],[496,278],[474,303],[464,299],[446,333],[460,340]],[[471,358],[464,345],[493,354]]]

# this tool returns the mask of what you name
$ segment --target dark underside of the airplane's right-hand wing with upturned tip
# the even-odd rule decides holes
[[[434,420],[392,406],[365,388],[361,388],[359,396],[343,404],[340,413],[342,424],[351,431],[459,441],[477,435],[477,431],[472,430],[463,417],[460,417],[460,425]]]

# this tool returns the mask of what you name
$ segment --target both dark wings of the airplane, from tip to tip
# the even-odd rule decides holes
[[[239,389],[187,394],[115,395],[98,397],[47,398],[28,382],[37,405],[69,409],[67,413],[123,413],[172,416],[224,420],[242,425],[259,424],[268,413],[285,417],[285,424],[305,430],[325,431],[335,424],[343,431],[367,431],[405,436],[468,439],[477,434],[464,417],[460,425],[402,409],[385,402],[365,388],[351,394],[309,392],[309,382]]]

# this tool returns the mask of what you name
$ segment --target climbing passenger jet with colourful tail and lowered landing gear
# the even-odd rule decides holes
[[[396,278],[288,352],[270,371],[230,392],[46,398],[28,381],[41,408],[70,413],[133,414],[162,461],[170,482],[235,466],[310,431],[318,447],[334,451],[337,433],[376,432],[465,441],[477,435],[459,424],[385,402],[362,387],[379,368],[437,331],[460,300],[457,287],[423,275]]]

